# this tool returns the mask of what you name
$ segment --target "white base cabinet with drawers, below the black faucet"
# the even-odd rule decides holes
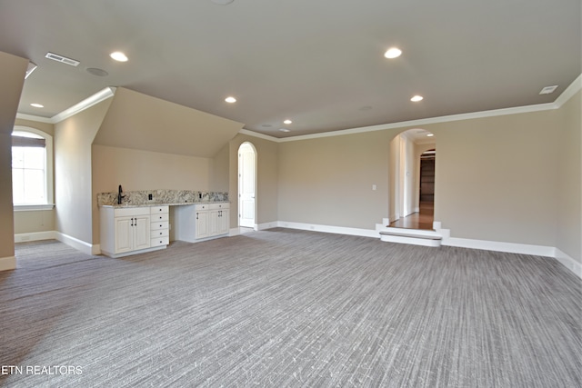
[[[167,213],[167,206],[164,207],[166,207]],[[99,212],[101,222],[100,244],[103,254],[111,257],[120,257],[127,254],[151,251],[154,248],[163,249],[166,247],[167,239],[153,239],[150,207],[119,208],[104,206],[100,208]],[[154,227],[157,228],[157,224],[154,224]],[[166,244],[159,244],[158,241]]]

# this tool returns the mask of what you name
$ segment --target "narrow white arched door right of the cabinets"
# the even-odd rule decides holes
[[[238,213],[239,226],[255,227],[255,148],[248,143],[238,149]]]

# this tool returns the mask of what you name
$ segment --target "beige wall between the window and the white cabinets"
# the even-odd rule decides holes
[[[86,244],[99,235],[91,144],[109,104],[111,99],[55,124],[56,231]]]

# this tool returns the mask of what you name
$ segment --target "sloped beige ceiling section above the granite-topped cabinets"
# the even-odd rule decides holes
[[[243,124],[123,87],[93,144],[166,154],[212,157]]]

